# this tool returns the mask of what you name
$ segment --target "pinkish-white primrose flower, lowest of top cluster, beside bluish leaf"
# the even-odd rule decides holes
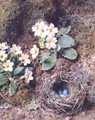
[[[46,45],[45,46],[46,46],[47,49],[51,49],[51,48],[55,49],[56,48],[56,42],[57,42],[56,37],[48,36],[46,38]]]

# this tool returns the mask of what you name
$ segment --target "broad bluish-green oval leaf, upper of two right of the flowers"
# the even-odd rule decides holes
[[[58,44],[62,47],[62,48],[69,48],[69,47],[72,47],[74,46],[75,44],[75,41],[72,37],[68,36],[68,35],[64,35],[64,36],[61,36],[59,39],[58,39]]]

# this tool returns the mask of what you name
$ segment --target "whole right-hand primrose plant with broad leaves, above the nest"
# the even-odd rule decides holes
[[[69,60],[77,58],[77,52],[73,48],[75,41],[68,32],[71,26],[58,30],[54,24],[47,24],[45,21],[38,21],[32,26],[34,36],[38,37],[38,46],[35,44],[31,48],[32,58],[40,56],[42,70],[50,70],[55,64],[58,55]]]

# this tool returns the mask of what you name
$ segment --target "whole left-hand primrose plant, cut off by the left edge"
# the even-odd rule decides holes
[[[9,94],[13,96],[22,82],[28,84],[33,80],[32,70],[29,55],[20,46],[0,43],[0,91],[9,86]]]

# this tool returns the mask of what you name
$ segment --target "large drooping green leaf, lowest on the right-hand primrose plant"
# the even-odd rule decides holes
[[[49,56],[43,63],[42,63],[42,70],[50,70],[56,64],[56,55],[53,54]]]

